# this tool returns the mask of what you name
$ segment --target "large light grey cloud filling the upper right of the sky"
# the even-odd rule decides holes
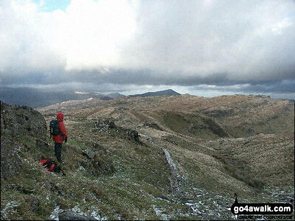
[[[141,32],[125,49],[134,55],[133,63],[182,71],[187,76],[228,73],[231,80],[289,78],[294,74],[295,20],[289,16],[294,2],[186,3],[142,3],[138,18]],[[289,19],[287,26],[278,25],[279,31],[273,33],[273,27],[285,17]]]

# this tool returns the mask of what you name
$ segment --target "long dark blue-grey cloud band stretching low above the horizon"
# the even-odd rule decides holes
[[[13,75],[9,80],[2,81],[0,86],[9,85],[38,85],[42,88],[68,88],[94,90],[103,88],[104,90],[116,90],[128,85],[152,85],[153,87],[177,86],[188,87],[198,90],[218,90],[221,93],[226,91],[236,91],[244,93],[295,93],[295,80],[263,80],[263,81],[230,81],[226,73],[217,73],[211,76],[185,76],[181,73],[173,73],[166,76],[149,70],[110,70],[108,73],[99,70],[75,71],[75,72],[55,72],[27,74],[21,78]],[[109,87],[109,88],[108,88]]]

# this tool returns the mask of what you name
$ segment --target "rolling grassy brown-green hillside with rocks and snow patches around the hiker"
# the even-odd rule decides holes
[[[290,101],[147,96],[37,111],[1,105],[1,163],[10,171],[1,177],[2,219],[233,219],[235,192],[239,202],[293,204]],[[59,111],[69,136],[66,176],[37,163],[55,159],[47,131]],[[11,135],[18,128],[22,135]]]

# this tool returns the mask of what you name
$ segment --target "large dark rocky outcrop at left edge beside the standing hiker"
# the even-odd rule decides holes
[[[28,137],[36,139],[37,147],[44,148],[46,128],[38,111],[1,102],[1,180],[15,177],[23,169],[20,152],[28,149]]]

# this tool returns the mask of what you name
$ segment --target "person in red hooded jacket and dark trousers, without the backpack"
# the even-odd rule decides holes
[[[56,119],[59,123],[59,133],[57,135],[53,134],[52,139],[55,142],[54,152],[55,152],[55,156],[57,158],[57,161],[62,163],[63,162],[63,160],[61,159],[62,143],[63,143],[63,141],[65,143],[67,142],[66,130],[65,130],[65,126],[63,124],[63,113],[57,113]]]

